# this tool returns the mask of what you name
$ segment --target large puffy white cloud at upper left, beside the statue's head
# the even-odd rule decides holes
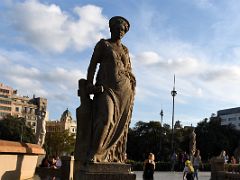
[[[55,4],[29,0],[12,5],[11,22],[23,42],[42,52],[62,53],[67,48],[81,51],[104,36],[107,19],[94,5],[76,7],[78,19]]]

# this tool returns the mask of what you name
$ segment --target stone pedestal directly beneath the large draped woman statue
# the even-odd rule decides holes
[[[131,165],[123,163],[74,163],[74,180],[136,180]]]

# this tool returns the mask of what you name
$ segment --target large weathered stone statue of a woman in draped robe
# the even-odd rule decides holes
[[[124,161],[135,94],[136,81],[128,49],[121,43],[130,24],[125,18],[115,16],[109,20],[109,27],[111,38],[96,44],[87,73],[87,89],[94,93],[88,154],[92,162]]]

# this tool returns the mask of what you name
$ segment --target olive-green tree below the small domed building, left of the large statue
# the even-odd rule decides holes
[[[68,130],[46,134],[44,148],[48,155],[60,156],[74,152],[75,138]]]

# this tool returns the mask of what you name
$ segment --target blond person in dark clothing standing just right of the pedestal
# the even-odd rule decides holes
[[[155,170],[155,156],[153,153],[149,153],[148,159],[143,164],[143,180],[153,180],[153,174]]]

